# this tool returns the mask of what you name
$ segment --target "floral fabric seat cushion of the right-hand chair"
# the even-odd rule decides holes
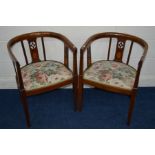
[[[84,72],[84,79],[99,84],[131,90],[136,70],[124,63],[115,61],[97,61]]]

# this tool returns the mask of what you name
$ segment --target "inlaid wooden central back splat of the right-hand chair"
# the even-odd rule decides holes
[[[115,59],[114,59],[115,61],[122,62],[125,42],[126,40],[118,38],[117,45],[116,45]]]

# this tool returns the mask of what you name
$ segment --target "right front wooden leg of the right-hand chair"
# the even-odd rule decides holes
[[[132,113],[135,105],[135,98],[136,98],[135,93],[130,96],[130,105],[129,105],[128,122],[127,122],[128,126],[131,124]]]

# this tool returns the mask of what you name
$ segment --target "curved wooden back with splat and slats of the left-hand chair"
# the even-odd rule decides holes
[[[16,43],[20,42],[22,51],[23,51],[23,55],[25,58],[25,64],[26,65],[29,64],[28,55],[27,55],[25,44],[24,44],[24,42],[27,41],[29,50],[30,50],[30,54],[31,54],[31,59],[32,59],[32,62],[30,62],[30,63],[41,61],[40,57],[39,57],[38,43],[37,43],[37,39],[40,39],[42,51],[43,51],[43,60],[46,61],[47,58],[46,58],[46,49],[45,49],[44,38],[55,38],[55,39],[58,39],[63,42],[63,44],[64,44],[64,64],[66,67],[68,67],[69,49],[73,52],[73,54],[77,52],[77,49],[65,36],[63,36],[59,33],[55,33],[55,32],[33,32],[33,33],[27,33],[24,35],[20,35],[20,36],[17,36],[15,38],[11,39],[8,42],[8,49],[9,49],[9,52],[11,52],[11,55],[13,55],[12,59],[14,59],[14,57],[15,57],[13,54],[13,51],[12,51],[12,47]]]

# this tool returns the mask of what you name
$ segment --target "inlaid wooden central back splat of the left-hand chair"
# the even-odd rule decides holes
[[[30,52],[31,52],[32,62],[40,61],[37,43],[36,43],[36,38],[29,39],[28,43],[29,43],[29,48],[30,48]]]

